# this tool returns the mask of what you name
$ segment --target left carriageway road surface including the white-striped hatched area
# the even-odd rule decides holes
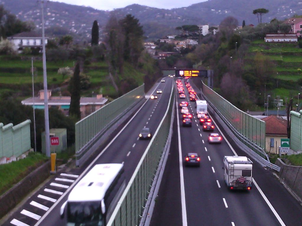
[[[64,219],[59,216],[59,209],[66,201],[69,191],[82,175],[95,164],[124,162],[126,181],[129,181],[143,152],[150,140],[139,140],[138,135],[143,127],[149,127],[154,133],[165,114],[172,88],[172,79],[166,77],[165,82],[159,84],[162,94],[158,99],[147,100],[133,120],[126,124],[124,130],[119,131],[116,139],[104,149],[88,168],[75,168],[62,172],[52,178],[40,188],[26,202],[5,221],[3,226],[34,226],[34,225],[64,225]],[[79,176],[81,175],[81,176]]]

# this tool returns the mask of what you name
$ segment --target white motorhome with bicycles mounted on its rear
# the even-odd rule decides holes
[[[252,189],[253,162],[246,156],[224,156],[224,180],[230,190]]]

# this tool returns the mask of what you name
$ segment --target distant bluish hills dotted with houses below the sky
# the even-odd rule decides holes
[[[41,27],[41,10],[36,0],[0,0],[5,9],[16,14],[21,20],[32,20]],[[266,8],[268,14],[262,16],[262,22],[273,18],[283,20],[294,14],[302,14],[302,0],[208,0],[188,7],[168,9],[152,8],[142,5],[129,5],[114,11],[96,10],[91,7],[49,2],[45,7],[46,27],[62,27],[61,32],[76,33],[82,39],[89,39],[92,24],[98,20],[100,27],[105,26],[111,13],[118,17],[132,14],[140,20],[145,35],[150,39],[161,38],[168,33],[175,33],[175,27],[184,24],[220,24],[227,16],[236,17],[241,25],[258,24],[253,9]],[[51,32],[52,28],[49,29]]]

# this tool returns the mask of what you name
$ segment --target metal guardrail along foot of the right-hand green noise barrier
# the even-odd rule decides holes
[[[203,83],[203,86],[206,86],[206,85],[204,85],[204,83]],[[251,140],[249,140],[248,138],[243,136],[241,133],[239,133],[236,130],[236,128],[214,106],[214,104],[210,102],[210,100],[204,95],[204,93],[202,93],[202,96],[207,101],[207,103],[214,109],[214,111],[217,113],[217,115],[220,117],[221,121],[226,125],[226,127],[229,128],[230,132],[233,133],[233,135],[234,135],[234,137],[232,137],[233,140],[237,141],[236,144],[239,147],[241,147],[241,149],[243,149],[243,151],[252,155],[254,157],[254,159],[257,160],[257,162],[259,162],[262,166],[272,168],[278,172],[280,171],[280,167],[275,164],[272,164],[269,161],[268,155],[265,153],[265,151],[260,146],[253,143]],[[230,135],[230,133],[229,133],[229,135]],[[252,147],[252,148],[250,148],[250,147]]]

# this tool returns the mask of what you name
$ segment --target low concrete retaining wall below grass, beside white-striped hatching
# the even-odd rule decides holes
[[[21,200],[50,175],[50,161],[27,175],[18,184],[0,196],[0,218],[13,209]]]

